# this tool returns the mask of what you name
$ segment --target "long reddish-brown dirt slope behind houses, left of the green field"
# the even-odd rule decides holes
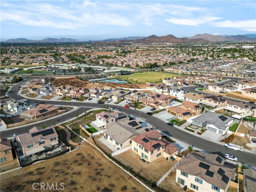
[[[74,87],[86,87],[86,88],[92,88],[95,86],[100,86],[100,87],[104,87],[106,89],[114,89],[116,87],[123,87],[123,88],[137,88],[135,86],[133,86],[132,84],[118,84],[118,83],[102,83],[102,82],[89,82],[89,81],[82,81],[82,80],[78,80],[75,77],[71,77],[71,78],[56,78],[56,80],[54,80],[52,82],[52,85],[58,87],[61,85],[71,85]]]

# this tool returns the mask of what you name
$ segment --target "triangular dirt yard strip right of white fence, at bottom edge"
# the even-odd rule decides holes
[[[180,187],[180,184],[175,182],[176,179],[176,169],[174,169],[162,183],[160,183],[159,187],[163,188],[169,192],[184,192],[183,188]],[[192,190],[187,189],[186,192],[192,192]]]

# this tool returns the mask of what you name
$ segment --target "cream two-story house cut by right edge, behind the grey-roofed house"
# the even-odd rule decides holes
[[[246,102],[233,102],[228,100],[228,105],[224,108],[224,112],[232,112],[242,117],[256,117],[256,107],[253,105],[246,104]]]

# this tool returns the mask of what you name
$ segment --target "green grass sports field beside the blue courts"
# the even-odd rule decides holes
[[[170,74],[170,73],[162,73],[162,72],[145,72],[145,73],[136,73],[133,75],[126,75],[126,76],[121,76],[121,79],[127,79],[130,82],[133,83],[141,83],[144,84],[146,82],[148,83],[160,83],[164,78],[174,78],[179,75],[176,74]],[[136,82],[138,80],[138,82]]]

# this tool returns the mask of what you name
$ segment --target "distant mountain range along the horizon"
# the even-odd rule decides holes
[[[94,42],[96,44],[125,44],[127,42],[137,43],[193,43],[193,42],[225,42],[225,41],[256,41],[256,34],[245,34],[245,35],[211,35],[211,34],[197,34],[193,37],[177,38],[173,35],[156,36],[151,35],[148,37],[125,37],[125,38],[109,38],[102,41],[84,41],[72,38],[45,38],[42,40],[28,40],[26,38],[8,39],[4,42]]]

